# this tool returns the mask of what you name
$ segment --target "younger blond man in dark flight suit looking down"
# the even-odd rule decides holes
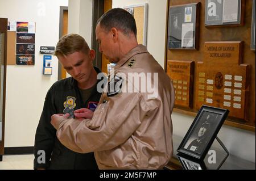
[[[66,148],[50,123],[51,116],[63,113],[64,109],[71,115],[72,110],[83,107],[96,109],[101,92],[97,92],[100,70],[92,63],[95,52],[83,37],[69,34],[61,37],[55,55],[72,77],[55,82],[47,92],[36,129],[34,169],[98,169],[93,153],[81,154]],[[46,158],[42,158],[42,150]]]

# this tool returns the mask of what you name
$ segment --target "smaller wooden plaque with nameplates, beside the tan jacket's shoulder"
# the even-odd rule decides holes
[[[194,68],[194,61],[168,60],[167,74],[174,84],[175,106],[192,108]]]

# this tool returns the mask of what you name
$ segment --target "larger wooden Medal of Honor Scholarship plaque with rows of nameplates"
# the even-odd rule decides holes
[[[197,62],[196,109],[225,108],[246,120],[250,65],[242,64],[242,48],[242,41],[205,42],[204,62]]]

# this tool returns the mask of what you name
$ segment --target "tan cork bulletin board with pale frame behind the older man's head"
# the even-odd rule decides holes
[[[134,16],[137,26],[137,40],[139,44],[147,45],[147,11],[148,4],[131,5],[123,7]]]

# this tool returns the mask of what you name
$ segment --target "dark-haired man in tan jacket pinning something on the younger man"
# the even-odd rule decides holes
[[[86,118],[82,121],[67,119],[69,114],[53,115],[51,124],[57,129],[57,137],[77,152],[95,151],[100,169],[162,169],[173,151],[172,82],[146,47],[138,45],[135,19],[129,12],[112,9],[102,15],[96,37],[100,51],[117,64],[117,89],[103,92],[93,116],[85,108],[75,111],[76,118]],[[138,73],[146,75],[147,81],[137,87],[129,74]],[[110,85],[111,76],[109,81]],[[136,90],[125,92],[125,83]],[[156,94],[143,91],[145,86],[154,87]]]

